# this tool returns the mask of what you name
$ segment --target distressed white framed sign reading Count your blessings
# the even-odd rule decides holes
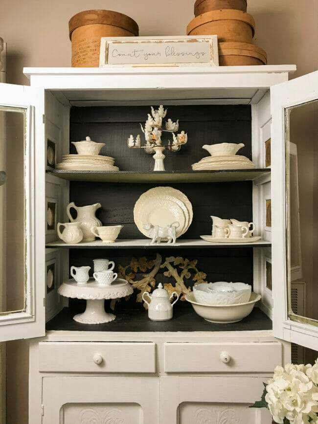
[[[202,51],[197,51],[195,47],[203,43]],[[141,49],[142,44],[147,45],[147,51]],[[109,60],[109,54],[114,54],[114,49],[121,46],[121,51],[117,57]],[[134,50],[130,47],[134,45]],[[136,53],[136,45],[139,46]],[[180,50],[180,46],[187,47]],[[149,48],[151,46],[151,49]],[[155,47],[155,49],[154,49]],[[177,47],[179,49],[175,50]],[[191,48],[192,47],[192,48]],[[167,56],[167,52],[170,54]],[[143,50],[141,52],[141,50]],[[174,54],[172,54],[172,51]],[[198,53],[196,55],[196,53]],[[138,54],[138,56],[136,56]],[[208,54],[205,61],[200,61],[203,55]],[[184,56],[195,56],[195,61],[182,62]],[[201,56],[200,56],[201,55]],[[123,56],[130,56],[124,63]],[[180,61],[171,61],[169,56],[179,58]],[[151,62],[146,62],[151,58]],[[158,62],[156,61],[158,57]],[[139,61],[139,58],[142,60]],[[163,59],[163,60],[162,60]],[[111,63],[110,63],[111,62]],[[133,63],[132,63],[133,62]],[[180,66],[219,66],[219,52],[217,35],[208,36],[172,36],[172,37],[102,37],[100,44],[99,67],[180,67]]]

